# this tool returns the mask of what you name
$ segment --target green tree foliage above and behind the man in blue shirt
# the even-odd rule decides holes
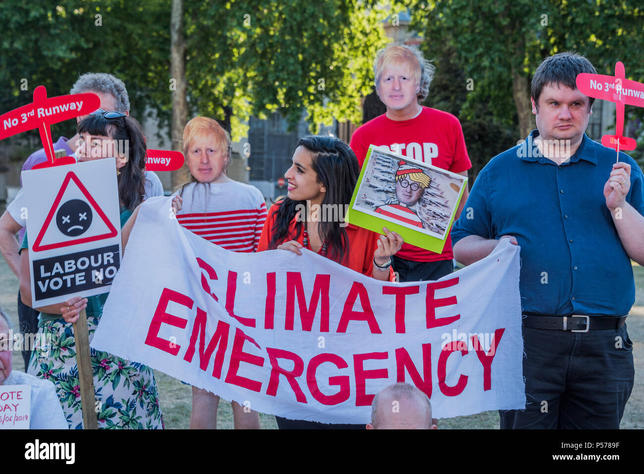
[[[401,3],[411,8],[412,28],[433,50],[451,44],[455,63],[464,77],[473,79],[474,88],[457,115],[471,119],[477,104],[487,103],[496,121],[520,126],[518,137],[531,128],[525,114],[529,81],[549,55],[574,50],[588,57],[600,74],[614,74],[615,62],[623,61],[629,79],[644,79],[644,10],[639,0]]]

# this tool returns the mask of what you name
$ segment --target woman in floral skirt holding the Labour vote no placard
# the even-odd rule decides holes
[[[77,150],[79,163],[116,157],[118,201],[121,226],[144,199],[146,143],[135,119],[120,112],[103,112],[82,119],[77,130],[82,143]],[[126,146],[127,144],[127,146]],[[30,305],[29,251],[25,233],[21,246],[20,287],[23,302]],[[99,324],[108,293],[88,298],[74,297],[63,304],[43,308],[39,337],[32,352],[28,372],[53,382],[70,428],[81,429],[82,410],[75,342],[71,323],[86,309],[90,341]],[[41,341],[50,341],[41,347]],[[99,405],[99,428],[163,428],[154,373],[151,368],[90,348],[94,388]],[[98,408],[97,408],[98,407]]]

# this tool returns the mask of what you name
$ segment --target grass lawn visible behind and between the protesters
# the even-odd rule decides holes
[[[636,283],[636,302],[630,311],[627,326],[630,339],[634,342],[633,357],[635,360],[635,386],[626,406],[621,428],[644,428],[644,267],[633,265]],[[606,282],[610,285],[611,282]],[[0,306],[8,313],[18,327],[17,317],[18,281],[9,270],[5,259],[0,259]],[[24,370],[23,358],[19,353],[13,356],[14,369]],[[165,373],[155,371],[159,400],[164,413],[166,428],[188,428],[192,404],[191,387]],[[231,404],[222,400],[217,414],[218,428],[232,429]],[[260,415],[261,427],[276,429],[277,424],[272,415]],[[366,420],[365,420],[366,422]],[[477,415],[457,417],[439,421],[439,427],[444,428],[477,428],[498,429],[498,413],[486,411]]]

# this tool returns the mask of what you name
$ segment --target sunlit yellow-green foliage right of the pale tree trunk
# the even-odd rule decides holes
[[[193,114],[231,106],[240,120],[279,111],[294,126],[359,122],[371,61],[384,46],[375,10],[356,0],[186,0],[186,77]]]

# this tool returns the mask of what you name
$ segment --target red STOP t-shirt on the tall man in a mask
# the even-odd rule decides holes
[[[371,144],[386,146],[392,152],[453,173],[472,167],[459,119],[429,107],[423,107],[421,114],[410,120],[395,121],[383,114],[359,126],[349,146],[360,166],[365,162],[366,150]],[[442,253],[403,244],[396,255],[417,262],[451,260],[451,237],[448,236]]]

